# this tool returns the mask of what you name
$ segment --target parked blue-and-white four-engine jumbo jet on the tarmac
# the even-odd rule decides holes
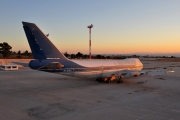
[[[94,78],[99,82],[123,82],[123,77],[143,74],[165,74],[166,71],[145,71],[137,58],[123,60],[70,60],[66,58],[34,23],[22,22],[35,60],[31,69],[82,78]]]

